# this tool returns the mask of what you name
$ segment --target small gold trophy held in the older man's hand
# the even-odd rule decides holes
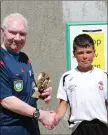
[[[37,79],[37,87],[34,88],[34,93],[32,95],[33,98],[39,98],[40,93],[43,92],[43,90],[47,89],[50,85],[50,77],[47,73],[41,72]]]

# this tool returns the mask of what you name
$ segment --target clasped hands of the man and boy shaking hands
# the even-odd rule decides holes
[[[53,129],[60,121],[60,116],[55,111],[40,110],[39,121],[46,129]]]

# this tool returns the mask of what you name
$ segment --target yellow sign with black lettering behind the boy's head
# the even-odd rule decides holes
[[[96,56],[94,58],[93,65],[105,70],[104,33],[95,32],[87,34],[93,38],[96,49]]]

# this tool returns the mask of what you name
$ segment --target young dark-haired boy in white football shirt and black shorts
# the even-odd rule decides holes
[[[72,135],[108,135],[107,74],[92,65],[95,57],[93,39],[87,34],[75,37],[73,54],[78,66],[61,77],[55,125],[69,104]]]

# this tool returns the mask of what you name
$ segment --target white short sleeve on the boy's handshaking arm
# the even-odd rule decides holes
[[[65,76],[63,75],[60,79],[58,92],[57,92],[57,98],[67,101],[68,99],[67,99],[67,92],[64,87],[64,78]]]

